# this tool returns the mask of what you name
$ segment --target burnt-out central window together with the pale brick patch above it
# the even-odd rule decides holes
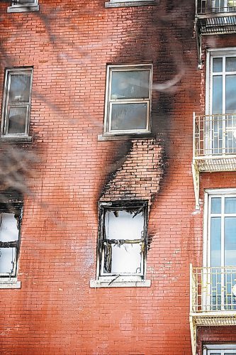
[[[150,287],[145,278],[148,209],[164,170],[162,141],[133,139],[99,201],[96,280],[91,287]]]

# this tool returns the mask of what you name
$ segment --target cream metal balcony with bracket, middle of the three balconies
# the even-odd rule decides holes
[[[193,114],[192,169],[199,209],[199,173],[236,170],[236,114]]]

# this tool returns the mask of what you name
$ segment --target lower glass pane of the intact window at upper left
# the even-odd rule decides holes
[[[8,133],[25,133],[27,107],[11,107],[9,110]]]

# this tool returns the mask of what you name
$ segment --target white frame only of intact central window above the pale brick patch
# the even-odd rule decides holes
[[[129,70],[150,70],[150,97],[148,99],[124,99],[119,100],[116,104],[124,104],[124,103],[138,103],[145,102],[147,103],[147,122],[146,129],[132,129],[132,130],[120,130],[120,131],[111,131],[111,106],[115,102],[115,100],[110,99],[110,91],[111,91],[111,73],[112,71],[129,71]],[[104,136],[116,136],[116,135],[127,135],[127,134],[143,134],[143,133],[151,133],[151,109],[152,109],[152,70],[153,65],[151,63],[145,64],[124,64],[124,65],[107,65],[106,69],[106,99],[105,99],[105,114],[104,114],[104,126],[103,126],[103,135]]]

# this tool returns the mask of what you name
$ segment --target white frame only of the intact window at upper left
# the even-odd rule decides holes
[[[9,89],[10,81],[9,77],[11,73],[23,74],[24,72],[30,72],[30,94],[29,101],[27,105],[27,115],[26,115],[26,127],[24,133],[7,133],[7,122],[8,122],[8,112],[7,105],[9,102]],[[32,84],[33,84],[33,68],[32,67],[14,67],[6,69],[5,78],[4,78],[4,95],[2,103],[2,112],[1,112],[1,139],[4,138],[30,138],[29,137],[29,126],[30,126],[30,109],[31,109],[31,99],[32,99]]]

